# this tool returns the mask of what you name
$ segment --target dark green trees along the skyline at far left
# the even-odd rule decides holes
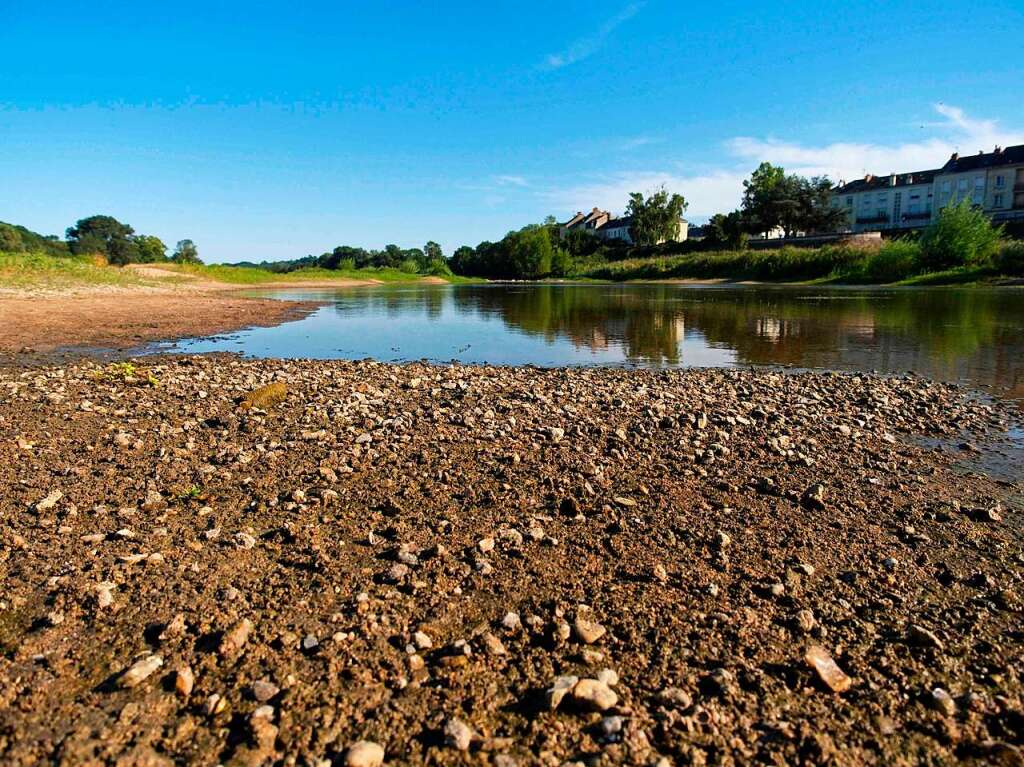
[[[0,251],[8,253],[43,252],[53,256],[98,255],[108,263],[202,263],[199,248],[191,240],[180,240],[170,256],[167,246],[153,235],[137,233],[113,216],[89,216],[69,226],[66,240],[44,237],[24,226],[0,222]]]

